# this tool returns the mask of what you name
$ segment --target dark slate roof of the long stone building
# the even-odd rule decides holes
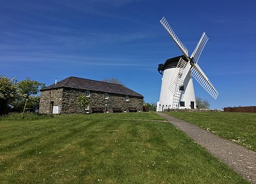
[[[90,79],[82,79],[75,76],[70,76],[62,81],[59,81],[56,85],[52,84],[46,88],[41,89],[41,91],[46,91],[54,88],[76,88],[83,89],[88,91],[100,91],[104,93],[115,93],[126,96],[137,96],[144,97],[141,94],[132,91],[126,86],[122,86],[121,84],[112,84],[102,81],[94,81]]]

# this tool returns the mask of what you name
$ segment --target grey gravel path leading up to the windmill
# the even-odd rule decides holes
[[[227,139],[218,137],[217,135],[203,130],[196,125],[178,120],[176,117],[157,113],[166,118],[178,129],[185,132],[188,137],[194,139],[198,144],[205,147],[211,154],[223,163],[233,168],[234,171],[240,173],[245,179],[251,183],[256,183],[256,152],[245,149],[245,147],[230,142]]]

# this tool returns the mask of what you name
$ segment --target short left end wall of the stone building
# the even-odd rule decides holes
[[[41,91],[39,113],[53,113],[53,106],[59,106],[60,112],[63,100],[63,88]]]

